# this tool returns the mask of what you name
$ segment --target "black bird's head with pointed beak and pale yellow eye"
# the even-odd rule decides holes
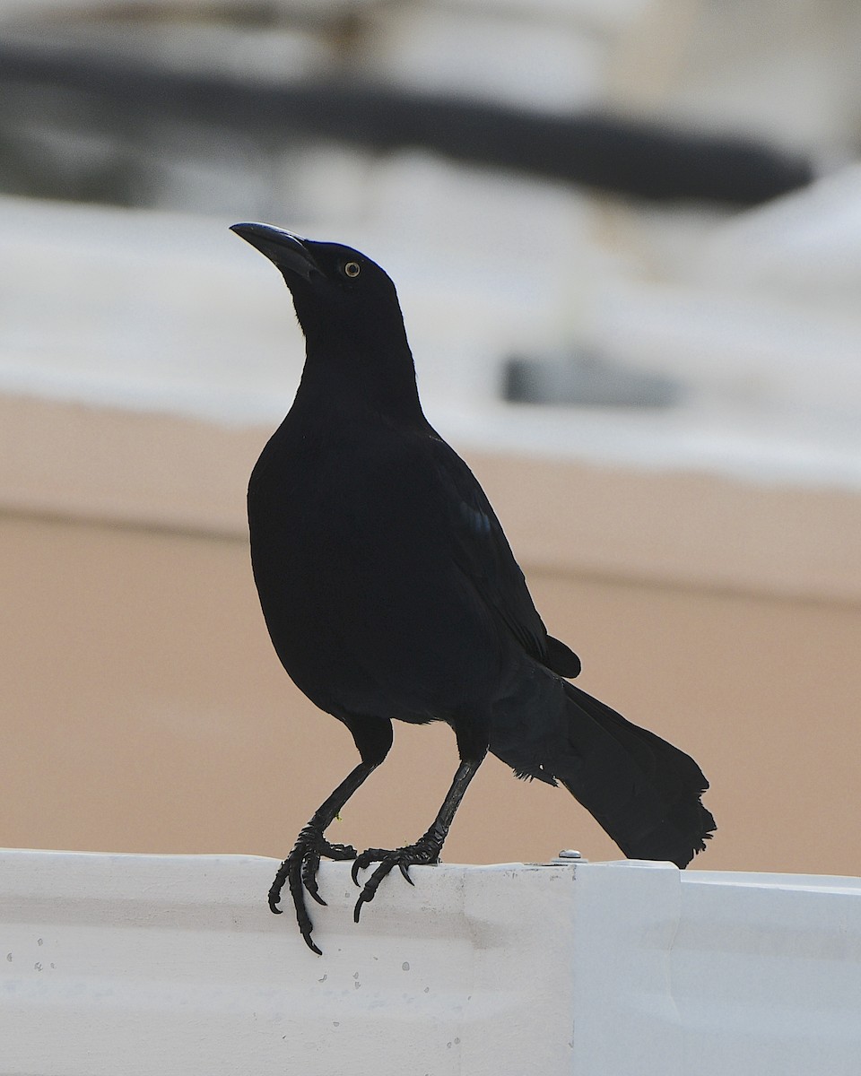
[[[321,345],[375,358],[409,353],[395,285],[369,257],[340,243],[301,239],[269,224],[231,229],[281,271],[311,350]]]

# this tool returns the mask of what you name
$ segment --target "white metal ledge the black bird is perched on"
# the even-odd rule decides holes
[[[274,867],[0,852],[0,1074],[857,1071],[859,879],[324,863],[317,958]]]

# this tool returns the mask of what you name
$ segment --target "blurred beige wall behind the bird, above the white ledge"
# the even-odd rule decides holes
[[[285,854],[356,756],[257,607],[241,506],[265,433],[25,400],[2,417],[0,845]],[[471,462],[583,686],[709,777],[697,865],[857,873],[858,498]],[[395,733],[337,839],[403,843],[433,817],[453,737]],[[447,858],[563,847],[617,856],[567,793],[490,760]]]

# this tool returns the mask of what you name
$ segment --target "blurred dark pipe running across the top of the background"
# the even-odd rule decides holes
[[[73,90],[93,100],[97,115],[98,107],[108,105],[129,123],[170,118],[241,131],[270,146],[297,132],[375,150],[419,146],[470,164],[661,201],[752,206],[813,179],[803,156],[747,138],[610,115],[526,112],[345,79],[239,81],[98,52],[0,43],[0,85]],[[93,117],[82,114],[80,122],[91,125]]]

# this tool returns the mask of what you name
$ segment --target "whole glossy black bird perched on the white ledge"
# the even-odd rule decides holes
[[[354,918],[398,867],[436,863],[490,750],[518,777],[561,781],[625,855],[687,866],[715,830],[696,763],[568,683],[580,661],[548,635],[499,521],[428,424],[395,286],[358,251],[266,224],[232,230],[280,269],[306,338],[293,407],[249,484],[254,579],[296,685],[352,733],[362,761],[299,834],[287,882],[314,952],[305,891],[321,856],[378,864]],[[325,830],[392,746],[392,719],[444,721],[461,764],[430,827],[357,855]]]

